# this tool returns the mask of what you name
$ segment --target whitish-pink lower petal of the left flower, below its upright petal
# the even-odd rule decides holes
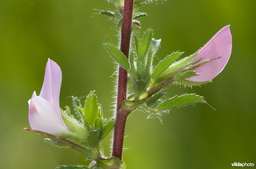
[[[50,134],[70,133],[62,124],[55,108],[40,96],[32,96],[28,114],[29,124],[34,130]]]

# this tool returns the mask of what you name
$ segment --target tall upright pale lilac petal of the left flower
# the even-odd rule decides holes
[[[57,113],[62,121],[59,105],[61,80],[62,73],[59,65],[49,59],[46,64],[44,83],[39,96],[51,103],[55,109],[55,113]]]

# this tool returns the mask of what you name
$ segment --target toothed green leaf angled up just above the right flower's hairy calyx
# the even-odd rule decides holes
[[[162,74],[175,60],[177,60],[184,52],[173,52],[172,54],[166,56],[164,60],[160,61],[155,69],[153,70],[153,73],[151,75],[152,79],[156,79],[160,74]]]

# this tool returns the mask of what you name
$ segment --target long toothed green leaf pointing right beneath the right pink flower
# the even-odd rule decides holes
[[[195,103],[206,103],[206,101],[204,100],[204,97],[196,94],[184,94],[181,96],[176,95],[159,104],[157,110],[166,110]]]

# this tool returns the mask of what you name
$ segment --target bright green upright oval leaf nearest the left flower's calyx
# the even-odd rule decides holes
[[[97,95],[89,94],[86,97],[85,106],[84,106],[84,116],[86,122],[92,126],[99,114],[99,105],[97,101]]]

